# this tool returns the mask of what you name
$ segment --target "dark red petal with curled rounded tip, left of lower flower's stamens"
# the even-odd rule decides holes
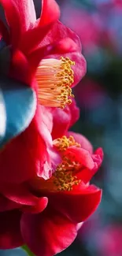
[[[48,203],[48,198],[37,198],[35,195],[32,195],[27,184],[1,184],[0,191],[6,196],[6,198],[0,197],[1,207],[2,209],[6,207],[5,210],[20,207],[26,213],[41,213]]]

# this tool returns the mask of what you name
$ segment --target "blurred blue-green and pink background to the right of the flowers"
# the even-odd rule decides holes
[[[38,15],[39,2],[35,0]],[[102,168],[92,180],[103,189],[101,206],[60,255],[122,256],[122,0],[58,3],[61,21],[79,35],[87,60],[87,75],[74,89],[81,114],[73,130],[105,152]],[[25,254],[17,249],[8,255]]]

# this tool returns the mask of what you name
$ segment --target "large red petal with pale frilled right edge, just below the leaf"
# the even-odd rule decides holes
[[[53,148],[47,120],[43,121],[41,107],[28,128],[13,139],[0,153],[1,182],[20,184],[33,176],[48,179],[61,158]],[[45,108],[45,115],[48,109]],[[52,124],[50,121],[50,128]],[[6,161],[7,158],[7,161]]]

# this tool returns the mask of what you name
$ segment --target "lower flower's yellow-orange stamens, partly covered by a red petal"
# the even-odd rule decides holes
[[[79,170],[80,164],[75,159],[68,158],[65,156],[65,151],[68,147],[80,147],[79,143],[76,143],[72,136],[67,138],[63,136],[62,138],[54,140],[54,146],[57,147],[62,154],[62,162],[57,166],[54,176],[54,185],[57,187],[58,191],[71,191],[73,185],[78,185],[80,180],[74,174]]]

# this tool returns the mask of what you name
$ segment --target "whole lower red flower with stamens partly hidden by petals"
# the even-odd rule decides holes
[[[96,210],[102,191],[89,182],[102,163],[102,149],[93,153],[83,135],[66,134],[54,139],[61,164],[49,180],[35,176],[24,184],[1,184],[1,248],[25,243],[37,256],[57,254],[76,238],[77,224]]]

